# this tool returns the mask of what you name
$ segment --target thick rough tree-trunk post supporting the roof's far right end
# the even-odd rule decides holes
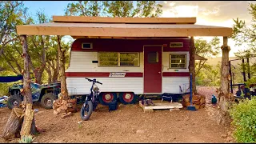
[[[223,37],[221,87],[218,94],[217,115],[217,122],[219,125],[230,124],[230,114],[228,113],[228,110],[231,105],[231,98],[233,97],[233,94],[230,94],[229,52],[230,47],[227,46],[227,37]]]

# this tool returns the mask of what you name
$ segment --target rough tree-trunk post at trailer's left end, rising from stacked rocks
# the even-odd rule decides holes
[[[65,75],[65,50],[62,50],[61,38],[58,36],[58,58],[59,58],[59,74],[61,78],[61,93],[62,99],[68,99],[68,91],[66,89],[66,75]]]

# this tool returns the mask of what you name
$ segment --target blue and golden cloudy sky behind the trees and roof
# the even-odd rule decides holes
[[[25,1],[24,5],[29,8],[30,14],[36,14],[37,10],[44,10],[48,17],[63,15],[68,3],[74,1]],[[249,25],[251,16],[248,12],[249,2],[256,1],[161,1],[162,16],[170,17],[197,17],[196,24],[208,26],[232,27],[233,18],[240,18]],[[210,41],[212,37],[203,37]],[[222,37],[219,37],[222,42]],[[234,52],[244,50],[245,47],[235,46],[235,42],[229,38],[230,57]],[[221,56],[219,54],[218,56]]]

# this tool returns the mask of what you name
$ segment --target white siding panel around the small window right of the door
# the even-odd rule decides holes
[[[170,69],[170,54],[186,54],[186,69]],[[162,53],[162,72],[189,72],[190,53],[186,51],[163,52]]]

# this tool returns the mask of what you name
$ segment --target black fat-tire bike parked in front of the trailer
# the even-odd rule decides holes
[[[80,116],[83,121],[87,121],[90,118],[90,115],[92,114],[92,112],[98,106],[99,89],[95,83],[102,85],[102,82],[98,82],[98,81],[96,81],[96,79],[89,79],[89,78],[86,78],[86,79],[89,82],[93,82],[93,84],[90,87],[90,94],[86,95],[86,102],[84,102],[84,104],[82,105],[82,108],[80,110]]]

